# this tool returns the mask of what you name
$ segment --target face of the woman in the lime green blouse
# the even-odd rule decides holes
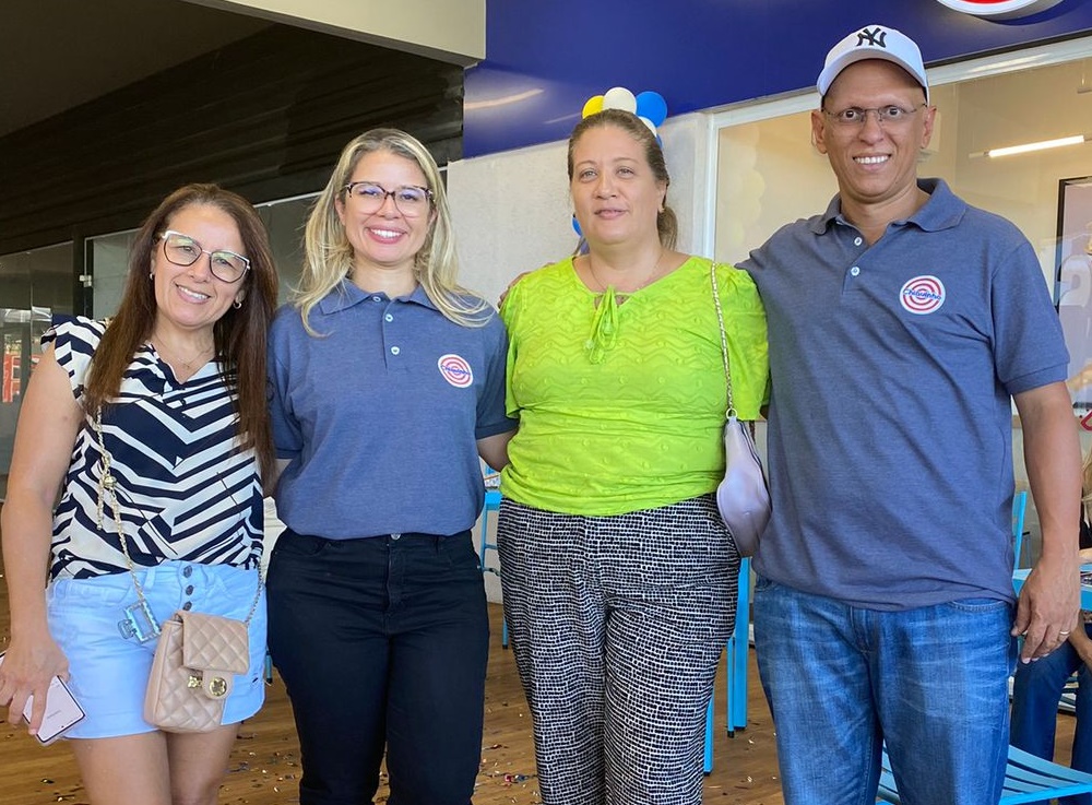
[[[617,126],[584,131],[572,146],[569,184],[580,230],[594,248],[653,240],[667,184],[654,176],[643,144]]]

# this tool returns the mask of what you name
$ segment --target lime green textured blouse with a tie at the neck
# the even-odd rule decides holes
[[[765,315],[750,275],[717,265],[740,419],[767,400]],[[691,257],[625,297],[590,291],[566,259],[518,282],[507,404],[520,428],[506,497],[569,514],[620,514],[716,489],[726,409],[710,261]]]

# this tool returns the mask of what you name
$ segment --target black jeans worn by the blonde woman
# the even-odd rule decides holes
[[[270,559],[269,640],[299,733],[300,805],[467,805],[489,624],[470,532],[324,540]]]

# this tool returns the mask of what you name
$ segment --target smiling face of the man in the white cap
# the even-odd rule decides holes
[[[811,113],[816,146],[830,159],[851,221],[855,212],[877,208],[889,211],[888,221],[917,209],[917,156],[929,143],[936,115],[935,107],[924,104],[925,91],[910,73],[890,61],[868,59],[839,73],[823,108]],[[914,111],[905,121],[883,125],[869,111],[863,126],[839,125],[827,114],[888,106]]]

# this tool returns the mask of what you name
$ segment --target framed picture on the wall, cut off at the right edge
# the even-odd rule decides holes
[[[1092,410],[1092,176],[1058,182],[1055,298],[1069,348],[1073,407]]]

